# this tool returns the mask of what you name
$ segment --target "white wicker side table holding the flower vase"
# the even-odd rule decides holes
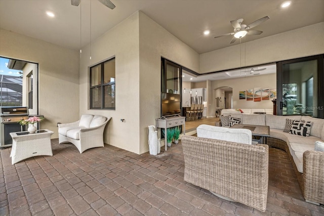
[[[53,156],[52,134],[54,132],[48,129],[36,131],[34,134],[29,134],[28,132],[10,133],[12,137],[11,163],[15,164],[21,160],[38,155]]]

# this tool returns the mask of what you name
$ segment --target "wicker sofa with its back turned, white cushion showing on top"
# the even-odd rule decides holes
[[[248,129],[199,125],[197,136],[181,138],[184,181],[220,198],[265,211],[268,146],[251,145],[252,134]]]

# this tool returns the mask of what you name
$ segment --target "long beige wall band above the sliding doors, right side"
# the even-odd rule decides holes
[[[324,53],[324,22],[247,42],[246,58],[240,45],[201,54],[199,73],[227,70]],[[244,52],[242,52],[244,53]]]

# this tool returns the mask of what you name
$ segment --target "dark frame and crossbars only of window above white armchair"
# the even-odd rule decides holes
[[[101,62],[99,64],[96,64],[96,65],[93,65],[92,67],[90,67],[90,73],[89,73],[89,76],[90,76],[90,82],[89,82],[89,87],[90,87],[90,89],[89,89],[89,95],[90,95],[89,104],[90,104],[90,106],[89,107],[90,107],[90,109],[116,110],[116,104],[115,104],[114,107],[108,107],[108,108],[107,107],[104,107],[104,103],[105,103],[105,92],[104,92],[104,90],[105,90],[105,87],[114,85],[114,91],[116,91],[115,90],[115,88],[116,88],[116,83],[115,83],[116,81],[115,81],[115,79],[112,82],[106,82],[106,83],[104,83],[104,64],[107,63],[107,62],[109,62],[109,61],[115,61],[115,57],[114,58],[111,58],[111,59],[108,59],[106,61],[103,61],[103,62]],[[92,84],[92,71],[91,71],[91,69],[94,68],[94,67],[97,67],[99,65],[101,66],[101,71],[100,71],[100,73],[101,73],[101,80],[100,80],[100,83],[98,85],[91,86],[91,84]],[[96,90],[98,88],[101,88],[101,92],[100,92],[100,94],[101,94],[101,107],[92,107],[92,91],[93,90]]]

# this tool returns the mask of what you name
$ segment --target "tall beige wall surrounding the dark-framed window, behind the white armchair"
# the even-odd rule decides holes
[[[112,117],[104,132],[104,143],[139,151],[139,24],[138,13],[119,23],[82,49],[80,60],[80,115],[85,113]],[[89,67],[115,57],[115,110],[89,109]],[[125,119],[125,122],[120,121]]]

